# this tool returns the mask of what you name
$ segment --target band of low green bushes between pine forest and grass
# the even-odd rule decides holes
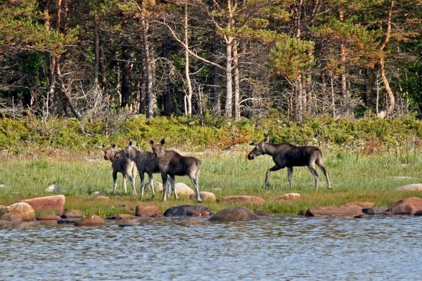
[[[130,117],[117,126],[113,136],[106,136],[101,120],[81,122],[77,119],[51,119],[37,117],[20,120],[0,119],[0,148],[26,154],[31,150],[91,150],[101,144],[115,143],[124,147],[134,141],[149,149],[150,140],[166,138],[169,147],[200,151],[204,148],[231,148],[261,141],[270,136],[273,143],[290,142],[296,145],[329,145],[351,151],[383,150],[388,148],[418,147],[422,144],[422,122],[414,115],[396,119],[365,117],[363,119],[333,119],[328,116],[308,118],[303,122],[288,122],[274,115],[262,119],[256,126],[253,120],[210,118],[201,126],[198,119],[188,117],[156,117],[142,115]]]

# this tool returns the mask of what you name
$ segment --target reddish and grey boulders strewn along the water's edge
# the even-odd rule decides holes
[[[186,194],[188,195],[188,193]],[[201,197],[205,198],[205,193]],[[212,194],[213,195],[213,194]],[[210,201],[215,201],[215,195],[210,195]],[[288,200],[298,200],[300,194],[286,193],[276,197],[274,202],[283,204]],[[214,212],[203,206],[198,205],[181,205],[168,208],[164,213],[155,204],[145,203],[139,204],[135,209],[132,207],[124,209],[125,211],[134,211],[134,214],[111,214],[106,219],[100,216],[84,217],[82,211],[75,209],[65,210],[65,196],[53,195],[46,197],[37,197],[23,200],[9,206],[0,206],[0,226],[19,224],[24,221],[51,221],[53,223],[72,223],[75,226],[104,226],[107,220],[131,221],[139,219],[157,219],[165,217],[186,217],[186,221],[179,224],[181,226],[188,225],[207,225],[210,223],[231,223],[236,221],[253,221],[263,216],[271,216],[272,214],[264,211],[252,212],[249,209],[236,204],[252,204],[260,205],[265,202],[264,199],[257,196],[237,195],[219,198],[219,202],[226,204],[234,204],[235,207],[229,207],[214,214]],[[123,209],[122,209],[123,210]],[[40,213],[37,218],[35,212]],[[374,207],[371,202],[350,202],[341,206],[316,206],[310,207],[305,211],[301,211],[300,215],[315,216],[350,216],[359,218],[367,215],[414,215],[422,216],[422,198],[409,197],[399,200],[392,204],[390,208]],[[129,226],[124,223],[122,226]]]

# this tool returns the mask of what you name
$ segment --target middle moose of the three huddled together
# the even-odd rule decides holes
[[[153,155],[153,152],[139,150],[134,146],[132,141],[129,142],[127,148],[124,149],[124,155],[135,162],[136,168],[138,169],[139,177],[141,178],[141,195],[143,196],[143,190],[146,187],[145,184],[145,173],[148,174],[148,185],[151,186],[153,191],[153,197],[155,197],[155,191],[153,186],[153,173],[159,173],[160,167],[158,162]]]

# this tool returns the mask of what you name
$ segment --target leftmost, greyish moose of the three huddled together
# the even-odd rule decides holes
[[[113,193],[116,191],[117,173],[121,173],[123,175],[124,192],[127,193],[126,177],[128,177],[130,183],[132,184],[132,192],[134,195],[136,195],[136,164],[131,159],[125,157],[123,150],[117,152],[115,150],[115,147],[115,144],[111,145],[111,147],[108,148],[103,145],[104,159],[110,160],[111,167],[113,168]]]

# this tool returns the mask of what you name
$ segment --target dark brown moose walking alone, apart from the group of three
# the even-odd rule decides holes
[[[249,152],[249,160],[260,155],[270,155],[275,163],[273,167],[267,169],[265,186],[269,185],[268,178],[271,171],[278,171],[287,167],[288,182],[290,188],[292,188],[293,166],[307,166],[315,178],[315,190],[318,190],[319,174],[315,169],[316,164],[326,177],[328,189],[331,189],[328,173],[322,160],[322,152],[316,146],[296,146],[290,143],[271,144],[269,143],[269,137],[264,138],[259,143],[250,143],[250,145],[255,145],[255,148]]]

